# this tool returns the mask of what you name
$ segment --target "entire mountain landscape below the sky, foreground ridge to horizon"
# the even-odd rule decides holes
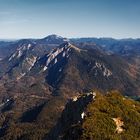
[[[0,41],[0,139],[139,139],[139,60],[140,39]],[[97,126],[106,118],[102,137],[88,125],[94,117]]]

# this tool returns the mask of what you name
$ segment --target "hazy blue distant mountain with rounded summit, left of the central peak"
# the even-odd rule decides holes
[[[22,45],[34,44],[34,46],[45,48],[45,50],[51,50],[52,48],[67,41],[69,40],[57,35],[49,35],[43,39],[22,39],[11,42],[0,41],[0,58],[6,58]]]

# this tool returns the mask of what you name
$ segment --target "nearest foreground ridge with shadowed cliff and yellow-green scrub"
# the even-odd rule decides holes
[[[139,102],[127,99],[116,91],[105,96],[93,93],[71,100],[46,139],[140,139]]]

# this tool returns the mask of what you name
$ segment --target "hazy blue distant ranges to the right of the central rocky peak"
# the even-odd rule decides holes
[[[122,56],[140,54],[140,39],[79,38],[71,39],[71,41],[76,44],[96,44],[106,51],[121,54]]]

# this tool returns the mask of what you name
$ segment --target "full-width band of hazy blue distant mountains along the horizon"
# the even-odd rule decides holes
[[[84,47],[85,44],[90,44],[96,46],[100,46],[105,51],[109,51],[115,54],[121,54],[123,56],[130,56],[133,54],[139,54],[139,46],[140,46],[140,39],[113,39],[113,38],[73,38],[73,39],[67,39],[63,38],[58,35],[49,35],[43,39],[24,39],[24,40],[17,40],[17,41],[0,41],[0,49],[1,53],[3,53],[6,50],[9,50],[9,53],[11,53],[11,48],[14,49],[14,46],[19,45],[22,41],[25,42],[25,40],[32,41],[39,45],[60,45],[64,42],[70,42],[74,43],[76,46]],[[81,45],[82,44],[82,45]],[[7,49],[4,49],[4,48]],[[88,46],[89,47],[89,46]],[[2,54],[1,54],[2,55]],[[0,55],[0,57],[1,57]],[[7,56],[7,55],[6,55]]]

